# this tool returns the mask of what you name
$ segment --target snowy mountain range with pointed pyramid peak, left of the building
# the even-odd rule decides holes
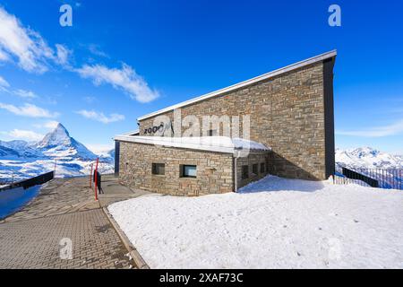
[[[114,152],[99,156],[69,135],[58,124],[38,143],[0,141],[0,181],[30,178],[55,169],[57,177],[82,176],[90,173],[90,164],[99,157],[99,170],[114,170]]]

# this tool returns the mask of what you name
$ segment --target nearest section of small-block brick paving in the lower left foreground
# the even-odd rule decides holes
[[[73,259],[61,259],[71,239]],[[129,268],[127,249],[101,209],[0,224],[0,268]]]

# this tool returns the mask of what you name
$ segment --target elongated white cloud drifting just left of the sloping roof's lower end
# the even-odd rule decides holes
[[[83,65],[76,71],[81,77],[92,79],[96,85],[109,83],[116,89],[123,89],[132,99],[140,102],[150,102],[159,97],[159,92],[151,90],[149,84],[130,65],[124,64],[121,69],[105,65]]]

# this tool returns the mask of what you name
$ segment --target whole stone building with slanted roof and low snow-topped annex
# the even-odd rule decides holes
[[[117,135],[125,185],[173,195],[236,191],[268,173],[334,173],[330,51],[138,118]]]

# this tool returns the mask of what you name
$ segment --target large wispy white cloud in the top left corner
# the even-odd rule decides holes
[[[56,53],[47,45],[40,34],[24,27],[13,14],[0,7],[0,61],[16,58],[18,65],[27,72],[44,73],[49,61],[64,65],[66,51],[62,45],[56,45]]]

